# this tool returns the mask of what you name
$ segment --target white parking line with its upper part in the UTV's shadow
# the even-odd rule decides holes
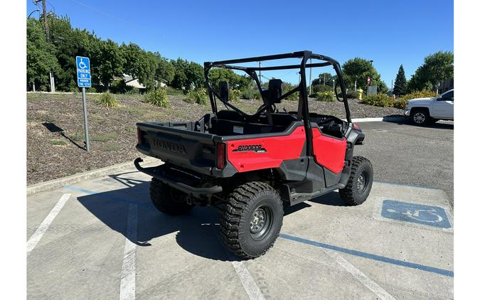
[[[137,212],[136,204],[129,204],[127,235],[123,250],[122,274],[120,277],[120,300],[135,299],[135,262],[137,260]]]

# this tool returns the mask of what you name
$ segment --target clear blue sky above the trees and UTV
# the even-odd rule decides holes
[[[26,14],[36,9],[27,1]],[[166,58],[197,63],[312,50],[340,63],[373,60],[390,87],[423,58],[453,51],[453,1],[110,1],[47,0],[73,26]],[[32,16],[38,18],[38,13]],[[313,77],[324,69],[314,71]],[[297,83],[294,71],[267,74]],[[282,75],[282,76],[280,76]]]

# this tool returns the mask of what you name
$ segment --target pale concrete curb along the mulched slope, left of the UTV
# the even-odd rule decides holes
[[[144,164],[153,164],[155,162],[160,163],[159,159],[154,159],[153,157],[144,157]],[[127,161],[122,164],[116,164],[113,166],[106,166],[105,168],[97,168],[92,171],[85,171],[82,173],[74,174],[71,176],[66,176],[58,179],[53,179],[50,181],[44,181],[41,183],[36,183],[31,186],[27,186],[27,195],[31,195],[38,192],[48,191],[53,188],[61,188],[62,186],[66,186],[68,184],[78,183],[79,181],[84,181],[87,179],[97,178],[101,176],[108,175],[113,171],[119,171],[124,168],[134,167],[133,160]]]

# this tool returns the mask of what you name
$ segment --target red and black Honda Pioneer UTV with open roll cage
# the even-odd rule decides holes
[[[256,66],[294,58],[297,63],[290,65]],[[346,121],[309,112],[305,70],[327,66],[336,72],[334,91],[345,106]],[[151,168],[140,166],[142,159],[134,161],[139,171],[153,177],[150,195],[158,210],[180,215],[195,205],[217,208],[225,244],[235,255],[248,259],[272,247],[282,227],[284,205],[335,190],[351,205],[366,200],[373,168],[368,159],[353,156],[353,147],[365,135],[351,122],[336,60],[305,50],[207,62],[204,68],[211,114],[196,122],[137,124],[138,151],[164,161]],[[212,87],[208,73],[213,68],[242,71],[256,82],[262,105],[255,114],[242,112],[228,101],[228,82]],[[265,89],[257,75],[294,69],[299,70],[299,85],[285,93],[282,80],[270,80]],[[299,92],[297,111],[279,112],[276,105],[294,92]],[[218,109],[218,101],[226,109]]]

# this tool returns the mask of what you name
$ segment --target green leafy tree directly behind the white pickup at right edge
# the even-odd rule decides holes
[[[454,55],[451,51],[438,51],[428,55],[415,70],[407,84],[409,92],[437,90],[440,82],[454,76]]]

